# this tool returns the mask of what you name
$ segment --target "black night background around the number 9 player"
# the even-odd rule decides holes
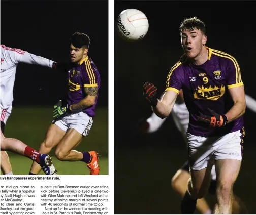
[[[116,1],[115,18],[125,9],[147,16],[149,30],[139,42],[123,41],[115,33],[115,213],[177,214],[181,198],[171,178],[186,160],[186,147],[172,117],[155,134],[136,135],[136,124],[151,115],[142,94],[146,81],[165,90],[170,68],[183,54],[179,25],[197,16],[206,23],[207,46],[226,52],[240,65],[246,94],[255,92],[255,10],[239,1]],[[255,213],[256,114],[246,110],[244,157],[234,192],[249,213]],[[213,206],[214,198],[207,197]]]

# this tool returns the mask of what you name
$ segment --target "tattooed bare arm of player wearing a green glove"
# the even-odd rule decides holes
[[[87,96],[80,102],[74,105],[70,105],[71,111],[83,110],[87,107],[94,105],[98,93],[98,87],[86,87],[84,88],[84,91],[87,94]]]

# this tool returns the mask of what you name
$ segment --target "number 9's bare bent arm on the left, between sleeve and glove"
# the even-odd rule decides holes
[[[155,107],[152,107],[153,112],[160,118],[166,118],[170,115],[175,104],[178,94],[174,91],[166,91],[162,100],[158,100]]]

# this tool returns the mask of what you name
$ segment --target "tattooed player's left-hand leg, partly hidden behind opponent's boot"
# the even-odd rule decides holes
[[[55,121],[56,124],[51,124],[46,132],[44,141],[41,143],[39,153],[48,154],[51,149],[56,146],[60,140],[64,137],[67,126],[62,123],[62,120]],[[38,175],[41,171],[40,165],[37,162],[33,162],[30,168],[29,175]]]

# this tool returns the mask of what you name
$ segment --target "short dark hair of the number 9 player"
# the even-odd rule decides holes
[[[197,28],[198,30],[201,30],[205,34],[205,23],[199,18],[194,16],[193,18],[184,19],[184,21],[180,23],[179,30],[181,33],[183,30],[191,31],[195,28]]]

